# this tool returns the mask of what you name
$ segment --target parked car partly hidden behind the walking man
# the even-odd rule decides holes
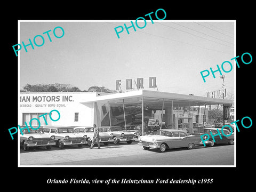
[[[74,128],[75,133],[85,133],[87,135],[87,145],[90,147],[94,135],[93,127],[79,126]],[[106,132],[99,132],[100,143],[104,143],[105,146],[109,144],[110,136]]]

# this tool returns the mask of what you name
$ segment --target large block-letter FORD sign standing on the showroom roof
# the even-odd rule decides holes
[[[122,80],[116,80],[116,91],[119,91],[121,89]],[[144,89],[144,87],[149,88],[157,88],[156,85],[156,77],[149,77],[149,82],[147,85],[144,85],[144,79],[143,78],[137,78],[137,81],[135,79],[125,79],[125,89],[126,90],[133,90],[135,89]]]

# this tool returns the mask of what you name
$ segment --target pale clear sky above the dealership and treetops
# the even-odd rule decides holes
[[[144,78],[145,88],[149,77],[156,77],[158,91],[206,96],[206,92],[222,87],[220,74],[210,74],[204,83],[203,70],[217,70],[224,61],[233,64],[233,70],[225,75],[229,94],[234,93],[235,23],[234,21],[182,21],[147,20],[139,29],[130,20],[115,21],[20,21],[19,42],[29,44],[36,35],[44,37],[42,46],[27,46],[19,54],[20,89],[26,84],[71,84],[80,90],[90,86],[116,89],[116,80]],[[138,22],[145,25],[144,21]],[[62,27],[61,38],[53,35],[55,27]],[[124,31],[115,33],[115,27]],[[52,42],[45,31],[50,30]],[[120,28],[119,28],[120,29]],[[118,30],[119,30],[118,29]],[[61,30],[55,30],[60,36]],[[37,44],[42,44],[40,37]],[[225,65],[226,70],[230,66]],[[133,86],[134,87],[134,86]],[[149,89],[148,89],[149,90]],[[153,89],[156,91],[156,89]]]

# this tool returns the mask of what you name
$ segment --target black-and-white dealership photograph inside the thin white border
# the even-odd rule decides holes
[[[236,22],[156,13],[19,21],[20,166],[235,166]]]

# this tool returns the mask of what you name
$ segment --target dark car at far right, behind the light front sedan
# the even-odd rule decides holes
[[[218,129],[219,133],[221,134],[221,137],[220,137],[220,135],[218,135],[217,129]],[[214,136],[215,142],[213,141],[213,138],[211,137],[211,133],[210,132],[213,134],[213,136],[215,135]],[[207,136],[205,135],[203,137],[203,139],[206,140],[206,141],[204,141],[205,145],[207,145],[209,147],[213,147],[214,143],[217,143],[217,144],[219,144],[219,143],[226,143],[226,144],[229,144],[229,145],[233,145],[234,144],[234,132],[232,134],[230,134],[230,131],[227,130],[227,129],[223,129],[223,133],[225,135],[229,135],[228,137],[222,134],[221,128],[205,128],[204,129],[204,134],[206,134],[206,133],[210,135],[210,138],[209,138],[209,140],[206,140]],[[203,144],[202,139],[199,142],[199,144]]]

